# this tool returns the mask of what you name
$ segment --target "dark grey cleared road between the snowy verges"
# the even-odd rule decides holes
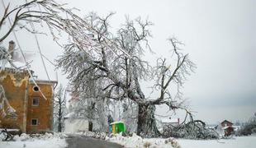
[[[86,136],[72,136],[66,139],[67,148],[122,148],[123,146],[116,143],[101,141]]]

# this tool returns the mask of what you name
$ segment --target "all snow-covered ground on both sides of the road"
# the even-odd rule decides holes
[[[235,136],[230,139],[220,140],[186,140],[174,138],[141,138],[136,134],[133,136],[121,136],[116,134],[112,136],[102,134],[92,134],[91,132],[80,134],[81,136],[92,136],[103,138],[106,141],[116,142],[127,148],[255,148],[256,135],[254,136]],[[97,136],[98,135],[98,136]],[[102,137],[101,137],[102,136]],[[67,146],[64,134],[55,133],[54,135],[46,133],[31,137],[26,134],[15,136],[15,141],[0,141],[0,148],[64,148]]]

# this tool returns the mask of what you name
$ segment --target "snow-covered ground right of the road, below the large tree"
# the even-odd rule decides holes
[[[154,148],[255,148],[256,136],[235,136],[230,139],[220,140],[186,140],[174,138],[145,138],[140,136],[116,136],[106,138],[107,141],[116,142],[127,148],[133,147],[154,147]]]

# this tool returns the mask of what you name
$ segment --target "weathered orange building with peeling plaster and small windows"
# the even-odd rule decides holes
[[[36,86],[37,84],[37,86]],[[0,116],[0,127],[22,132],[47,132],[53,125],[53,97],[56,81],[31,81],[26,70],[5,68],[0,72],[0,85],[17,118]],[[0,98],[1,99],[1,98]],[[3,108],[6,109],[6,108]]]

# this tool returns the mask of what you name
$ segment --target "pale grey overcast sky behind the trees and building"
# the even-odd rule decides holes
[[[16,1],[13,1],[16,2]],[[18,1],[17,1],[18,2]],[[153,38],[151,48],[156,54],[145,59],[170,57],[167,39],[175,36],[183,49],[197,64],[188,76],[184,97],[195,117],[206,123],[223,119],[246,121],[256,112],[256,1],[254,0],[59,0],[77,7],[83,16],[97,12],[111,18],[113,29],[124,22],[125,16],[149,18]],[[1,5],[2,14],[2,5]],[[10,37],[9,39],[12,39]],[[33,37],[19,34],[22,47],[36,48]],[[6,40],[7,42],[7,40]],[[33,43],[35,42],[35,43]],[[6,43],[3,43],[6,44]],[[40,37],[43,53],[54,60],[61,49],[51,39]],[[34,60],[34,70],[44,77],[40,60]],[[48,67],[51,67],[50,65]],[[59,72],[60,75],[60,72]],[[55,75],[51,72],[55,79]],[[59,81],[66,83],[63,76]],[[146,86],[144,86],[146,87]],[[159,113],[165,113],[159,109]]]

